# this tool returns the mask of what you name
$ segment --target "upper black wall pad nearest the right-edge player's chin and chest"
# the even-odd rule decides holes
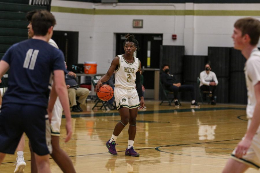
[[[231,48],[231,56],[230,56],[230,73],[231,72],[243,72],[244,66],[246,63],[245,57],[242,55],[240,50],[236,50]]]

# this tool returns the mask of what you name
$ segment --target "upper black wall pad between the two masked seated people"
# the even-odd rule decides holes
[[[185,55],[183,58],[183,82],[197,82],[206,62],[207,56]]]

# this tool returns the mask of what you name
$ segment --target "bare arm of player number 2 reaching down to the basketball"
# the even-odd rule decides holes
[[[112,76],[112,74],[114,73],[118,65],[119,65],[119,58],[115,57],[111,62],[111,65],[107,70],[107,73],[104,76],[102,76],[102,78],[97,82],[95,92],[99,92],[99,87],[102,86],[102,82],[106,82],[109,80],[109,78]]]

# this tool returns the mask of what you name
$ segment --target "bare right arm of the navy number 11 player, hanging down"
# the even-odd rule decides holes
[[[66,117],[66,129],[67,136],[65,138],[65,142],[68,142],[72,136],[72,125],[71,125],[71,114],[70,114],[70,106],[68,99],[68,89],[65,84],[64,71],[63,70],[54,70],[54,83],[55,90],[57,95],[59,96],[60,103],[62,104],[62,108]]]

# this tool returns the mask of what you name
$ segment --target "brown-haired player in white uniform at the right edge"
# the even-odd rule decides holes
[[[260,166],[260,51],[257,43],[260,36],[260,21],[242,18],[235,22],[232,35],[234,48],[241,50],[246,58],[245,77],[248,90],[246,115],[247,131],[237,144],[223,172],[245,172],[249,167]]]

